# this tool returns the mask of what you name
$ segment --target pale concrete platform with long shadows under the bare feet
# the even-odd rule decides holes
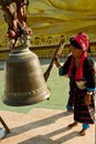
[[[0,111],[0,115],[11,131],[0,144],[95,144],[95,125],[90,125],[86,136],[78,134],[81,124],[67,128],[73,122],[70,112],[32,109],[26,114]]]

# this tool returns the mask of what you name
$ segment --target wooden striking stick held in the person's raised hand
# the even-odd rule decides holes
[[[51,63],[50,63],[47,70],[46,70],[45,73],[44,73],[44,79],[45,79],[45,81],[47,81],[47,79],[49,79],[49,76],[50,76],[50,72],[51,72],[51,70],[52,70],[52,68],[53,68],[53,65],[54,65],[55,58],[61,55],[62,50],[63,50],[64,47],[65,47],[65,42],[64,42],[64,41],[58,44],[58,47],[57,47],[57,49],[56,49],[56,51],[55,51],[55,54],[54,54],[54,56],[53,56],[53,59],[52,59],[52,61],[51,61]]]

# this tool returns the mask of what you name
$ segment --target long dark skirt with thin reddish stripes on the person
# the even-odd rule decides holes
[[[72,85],[73,88],[74,85]],[[79,90],[76,85],[71,90],[71,103],[74,105],[74,120],[79,123],[94,124],[95,123],[95,95],[92,95],[92,102],[86,105],[84,97],[86,90]],[[70,100],[68,100],[70,101]]]

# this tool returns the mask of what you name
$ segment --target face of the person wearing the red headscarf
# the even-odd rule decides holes
[[[76,49],[75,47],[71,45],[71,52],[74,58],[81,58],[83,50],[82,49]]]

